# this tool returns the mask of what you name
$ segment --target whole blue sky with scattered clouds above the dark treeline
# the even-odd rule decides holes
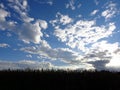
[[[120,71],[120,0],[0,0],[0,70]]]

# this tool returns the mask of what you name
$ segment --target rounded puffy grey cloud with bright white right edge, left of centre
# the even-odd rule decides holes
[[[20,39],[26,43],[40,43],[42,41],[41,37],[43,37],[41,29],[46,28],[47,22],[43,20],[38,20],[34,24],[23,23],[23,25],[17,29],[17,34],[19,35]]]

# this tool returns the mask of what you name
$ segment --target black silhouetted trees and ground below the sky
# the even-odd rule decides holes
[[[0,71],[0,90],[120,90],[120,73]]]

